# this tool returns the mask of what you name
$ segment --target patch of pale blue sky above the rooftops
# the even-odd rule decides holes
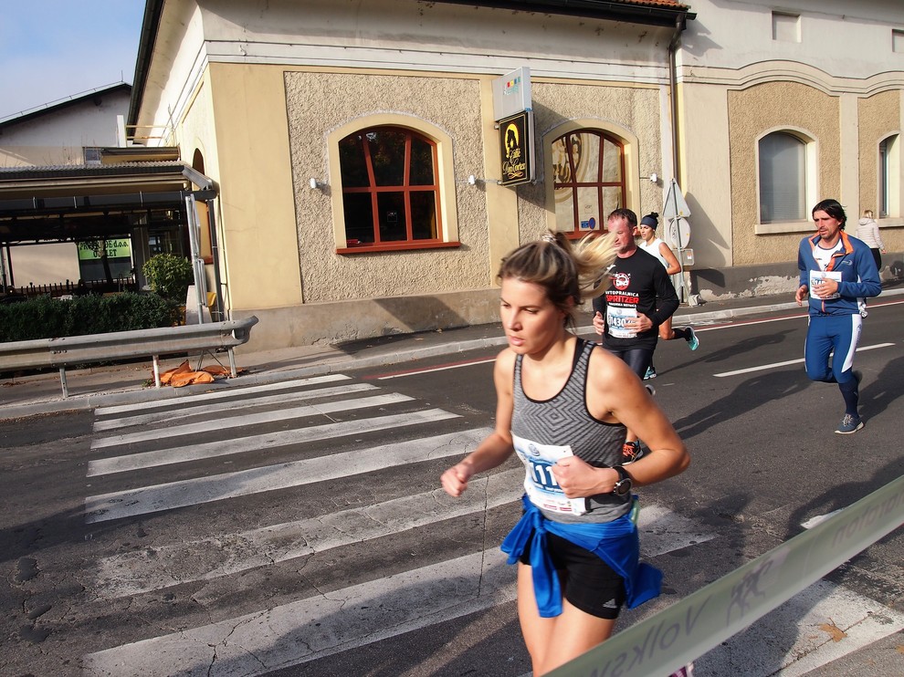
[[[0,120],[132,84],[145,0],[0,0]]]

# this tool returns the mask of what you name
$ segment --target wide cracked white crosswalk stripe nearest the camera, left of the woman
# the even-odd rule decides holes
[[[85,675],[258,675],[515,599],[494,547],[274,609],[90,653]]]

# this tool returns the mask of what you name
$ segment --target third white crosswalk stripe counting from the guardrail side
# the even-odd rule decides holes
[[[245,414],[244,416],[236,416],[229,419],[185,423],[184,425],[173,425],[166,428],[153,428],[152,430],[142,432],[130,432],[128,434],[100,437],[91,443],[91,449],[103,449],[104,447],[118,446],[120,444],[131,444],[136,442],[148,442],[149,440],[157,442],[166,437],[179,437],[183,435],[194,435],[202,432],[223,431],[230,428],[243,428],[247,425],[261,425],[264,423],[287,421],[289,419],[300,419],[305,416],[317,416],[321,414],[332,413],[335,411],[349,411],[352,409],[365,409],[367,407],[380,407],[384,404],[395,404],[397,402],[412,400],[414,400],[414,398],[408,397],[407,395],[401,395],[391,392],[385,395],[374,395],[373,397],[363,397],[355,400],[341,400],[335,402],[323,402],[321,404],[308,404],[303,407],[292,407],[290,409],[280,409],[279,411],[261,411],[259,413],[249,413]]]

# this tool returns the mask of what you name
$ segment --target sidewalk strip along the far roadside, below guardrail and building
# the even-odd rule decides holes
[[[880,298],[904,294],[904,281],[885,283]],[[754,316],[779,310],[799,312],[794,295],[733,298],[710,301],[702,306],[681,306],[675,314],[676,327],[708,324],[729,318]],[[577,318],[578,333],[593,334],[591,314]],[[280,380],[320,376],[342,370],[383,367],[414,359],[454,355],[466,350],[505,345],[499,323],[465,328],[400,334],[389,337],[353,341],[336,346],[302,346],[261,352],[237,351],[240,370],[235,379],[219,379],[214,383],[172,388],[154,388],[150,359],[129,364],[67,370],[69,396],[63,398],[57,371],[35,376],[0,379],[0,421],[56,411],[77,411],[99,406],[174,399],[198,392],[258,385]],[[803,347],[802,347],[803,349]],[[226,353],[217,354],[228,367]],[[185,358],[161,359],[162,371],[172,369]],[[197,357],[192,359],[197,366]],[[204,365],[215,364],[205,355]]]

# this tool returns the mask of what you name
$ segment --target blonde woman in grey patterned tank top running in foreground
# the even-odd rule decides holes
[[[475,474],[518,453],[524,515],[502,543],[518,564],[518,613],[533,674],[607,639],[622,606],[659,594],[640,564],[631,487],[682,472],[689,455],[641,380],[621,359],[569,331],[582,291],[613,261],[610,237],[571,245],[546,234],[503,261],[501,318],[509,347],[496,359],[495,430],[442,475],[461,495]],[[649,447],[619,465],[625,426]]]

